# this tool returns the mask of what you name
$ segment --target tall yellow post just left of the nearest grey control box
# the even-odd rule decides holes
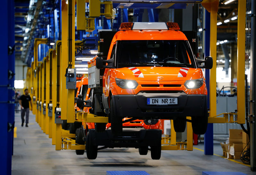
[[[68,1],[68,4],[70,4],[70,1]],[[60,50],[60,108],[61,120],[67,120],[67,89],[65,74],[66,68],[68,67],[68,5],[66,4],[61,8],[61,28],[62,40]]]

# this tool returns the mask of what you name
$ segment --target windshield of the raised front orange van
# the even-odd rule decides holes
[[[117,44],[116,67],[161,66],[196,68],[186,40],[123,40]]]

